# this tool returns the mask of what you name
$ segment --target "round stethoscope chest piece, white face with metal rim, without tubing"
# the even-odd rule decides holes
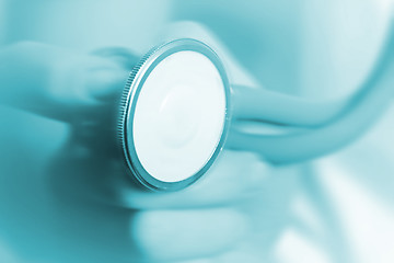
[[[198,180],[223,147],[229,81],[216,53],[195,39],[149,52],[123,94],[118,137],[130,175],[157,191]]]

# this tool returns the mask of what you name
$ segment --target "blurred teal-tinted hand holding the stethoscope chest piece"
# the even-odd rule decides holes
[[[1,52],[2,103],[40,116],[1,108],[0,235],[50,262],[174,262],[232,250],[250,227],[235,204],[259,193],[267,167],[224,151],[185,191],[136,188],[104,125],[134,59],[116,54],[34,43]]]

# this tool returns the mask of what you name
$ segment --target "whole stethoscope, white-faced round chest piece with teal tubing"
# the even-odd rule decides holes
[[[120,100],[118,139],[131,179],[153,191],[177,191],[201,178],[223,147],[274,163],[310,160],[355,140],[394,92],[394,31],[361,88],[349,99],[316,102],[232,85],[217,53],[181,38],[148,52]],[[243,123],[291,132],[267,135]]]

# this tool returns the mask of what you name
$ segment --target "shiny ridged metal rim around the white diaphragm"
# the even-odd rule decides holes
[[[223,89],[224,112],[222,116],[223,123],[221,127],[220,138],[218,138],[218,141],[216,142],[215,149],[210,153],[210,157],[194,174],[179,181],[169,182],[160,180],[157,176],[150,174],[144,168],[144,165],[141,163],[135,144],[134,118],[136,105],[140,96],[142,87],[147,81],[147,78],[160,62],[162,62],[171,55],[178,54],[181,52],[194,52],[196,54],[204,55],[215,66],[218,75],[220,76],[220,81]],[[223,148],[229,129],[231,114],[229,98],[230,84],[224,70],[224,66],[222,65],[218,55],[208,45],[192,38],[181,38],[165,43],[148,52],[142,57],[140,62],[132,69],[129,76],[120,100],[118,116],[118,140],[121,147],[123,155],[125,157],[127,169],[129,170],[129,174],[131,175],[134,181],[137,181],[139,184],[152,191],[178,191],[187,187],[188,185],[196,182],[199,178],[201,178],[212,165],[212,163]],[[204,105],[200,106],[204,107]],[[153,148],[151,150],[154,151]]]

